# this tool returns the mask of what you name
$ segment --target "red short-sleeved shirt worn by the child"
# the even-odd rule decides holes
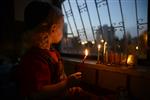
[[[44,85],[52,84],[51,65],[43,58],[43,54],[53,59],[50,64],[59,67],[56,64],[58,57],[55,51],[39,48],[30,49],[21,59],[19,68],[20,89],[23,96],[40,91]]]

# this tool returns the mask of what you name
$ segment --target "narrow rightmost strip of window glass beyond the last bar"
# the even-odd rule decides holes
[[[137,0],[137,13],[138,13],[138,22],[139,22],[139,58],[147,58],[147,19],[148,19],[148,0]]]

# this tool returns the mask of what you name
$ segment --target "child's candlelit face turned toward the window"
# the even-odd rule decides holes
[[[58,21],[57,24],[52,25],[51,39],[52,43],[59,43],[63,37],[64,19],[63,17]]]

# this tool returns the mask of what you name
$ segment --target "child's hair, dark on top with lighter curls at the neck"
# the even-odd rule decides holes
[[[31,2],[24,12],[27,45],[45,47],[51,26],[57,24],[61,18],[62,11],[48,2]]]

